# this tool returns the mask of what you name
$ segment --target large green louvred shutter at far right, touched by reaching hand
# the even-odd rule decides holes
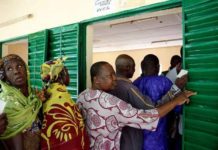
[[[218,150],[218,0],[183,0],[187,89],[198,94],[184,108],[184,150]]]

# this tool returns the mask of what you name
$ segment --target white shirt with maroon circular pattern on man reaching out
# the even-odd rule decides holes
[[[119,150],[124,126],[154,131],[159,120],[156,109],[135,109],[100,90],[85,90],[77,102],[85,117],[92,150]],[[147,117],[143,118],[140,114]]]

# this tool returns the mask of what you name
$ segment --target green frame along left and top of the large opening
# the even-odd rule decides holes
[[[87,36],[87,26],[99,22],[105,22],[130,16],[135,16],[143,13],[161,11],[176,7],[182,7],[182,0],[168,0],[161,3],[156,3],[148,6],[142,6],[135,9],[125,10],[118,13],[113,13],[105,16],[100,16],[80,22],[80,56],[79,56],[79,74],[80,74],[80,89],[79,92],[86,89],[86,36]]]

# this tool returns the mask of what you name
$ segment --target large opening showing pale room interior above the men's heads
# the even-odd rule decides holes
[[[136,63],[134,80],[141,74],[145,55],[158,56],[160,72],[168,70],[173,55],[180,55],[182,10],[179,7],[100,22],[89,25],[87,33],[87,49],[91,50],[87,51],[87,73],[94,62],[104,60],[114,67],[118,55],[128,54]]]

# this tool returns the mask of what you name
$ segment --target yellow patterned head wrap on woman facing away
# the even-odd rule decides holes
[[[41,66],[41,78],[45,83],[54,82],[58,79],[60,72],[64,68],[66,57],[50,60]]]

